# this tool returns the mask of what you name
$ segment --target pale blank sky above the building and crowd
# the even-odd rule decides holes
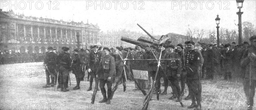
[[[153,35],[186,34],[188,28],[215,30],[238,27],[236,0],[1,0],[3,11],[12,9],[25,16],[97,24],[101,31],[126,29]],[[256,0],[244,0],[242,22],[256,25]],[[144,32],[143,32],[144,33]]]

